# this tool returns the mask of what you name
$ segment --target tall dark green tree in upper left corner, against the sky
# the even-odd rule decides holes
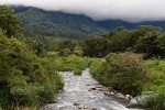
[[[0,6],[0,28],[6,31],[9,37],[21,36],[23,33],[21,22],[14,15],[14,11],[7,6]]]

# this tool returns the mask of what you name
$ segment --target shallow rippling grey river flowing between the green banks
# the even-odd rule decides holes
[[[89,69],[84,70],[81,76],[69,72],[59,74],[64,77],[64,89],[54,99],[55,103],[47,103],[40,110],[130,110],[102,90],[95,89],[96,85],[100,85]]]

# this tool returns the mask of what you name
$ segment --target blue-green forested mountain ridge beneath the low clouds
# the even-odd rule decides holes
[[[23,6],[11,7],[26,28],[29,35],[80,38],[87,35],[99,35],[121,25],[132,30],[143,23],[161,26],[165,31],[165,21],[145,21],[141,23],[130,23],[121,20],[94,21],[82,14],[45,11]]]

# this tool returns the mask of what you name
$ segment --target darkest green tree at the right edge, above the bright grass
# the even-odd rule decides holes
[[[145,57],[151,56],[163,56],[165,53],[165,42],[164,42],[164,35],[161,36],[157,33],[148,33],[145,34],[145,36],[141,36],[138,40],[138,43],[135,45],[135,51],[138,53],[145,54]]]

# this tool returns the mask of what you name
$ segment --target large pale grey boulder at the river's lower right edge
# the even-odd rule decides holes
[[[128,105],[128,108],[144,108],[147,99],[154,97],[155,94],[153,91],[143,91],[141,96],[134,97]]]

